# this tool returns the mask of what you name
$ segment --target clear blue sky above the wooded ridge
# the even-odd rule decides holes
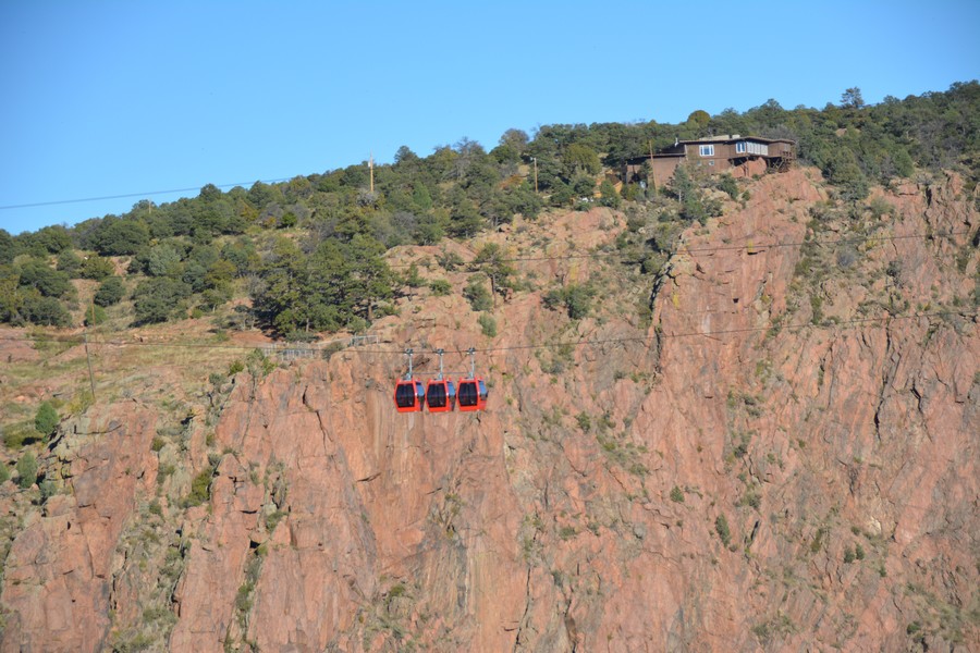
[[[980,77],[977,0],[0,1],[0,227],[554,123]]]

